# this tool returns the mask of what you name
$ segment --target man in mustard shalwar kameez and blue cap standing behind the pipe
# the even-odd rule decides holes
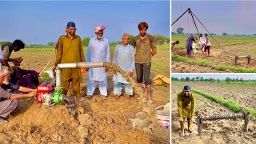
[[[74,22],[68,22],[66,25],[66,35],[59,39],[58,52],[54,63],[55,70],[59,63],[85,62],[82,50],[82,42],[80,36],[75,34]],[[81,69],[62,69],[62,91],[66,95],[70,87],[73,90],[74,101],[76,96],[80,96],[80,82],[82,81]]]

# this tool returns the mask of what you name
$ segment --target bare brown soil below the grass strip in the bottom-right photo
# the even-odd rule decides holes
[[[185,84],[185,83],[182,83]],[[200,86],[200,85],[199,85]],[[191,85],[192,89],[196,88],[195,84]],[[222,86],[219,86],[222,87]],[[199,88],[199,87],[198,87]],[[178,116],[177,95],[182,91],[182,85],[179,82],[172,83],[171,93],[171,114],[172,117]],[[201,90],[201,89],[198,89]],[[242,91],[242,89],[240,89]],[[203,91],[203,90],[202,90]],[[218,91],[222,91],[218,90]],[[215,93],[213,93],[215,94]],[[217,95],[217,94],[216,94]],[[195,94],[196,110],[195,115],[217,115],[217,114],[233,114],[228,108],[212,102],[209,99]],[[238,97],[238,96],[237,96]],[[242,119],[235,120],[216,120],[203,121],[202,135],[198,136],[197,126],[192,127],[193,132],[190,134],[186,131],[186,137],[180,137],[180,125],[178,121],[172,122],[171,138],[173,143],[255,143],[256,142],[256,124],[250,121],[248,132],[242,131],[244,121]]]

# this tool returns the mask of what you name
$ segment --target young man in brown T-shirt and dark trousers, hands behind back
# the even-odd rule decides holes
[[[146,34],[146,30],[149,28],[146,22],[140,22],[138,24],[139,34],[133,38],[131,45],[136,48],[135,54],[135,69],[137,74],[138,87],[142,88],[142,82],[147,90],[147,102],[153,103],[151,96],[151,58],[154,54],[157,54],[156,41],[150,34]]]

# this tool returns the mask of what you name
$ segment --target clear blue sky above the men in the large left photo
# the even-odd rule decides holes
[[[105,38],[116,42],[123,33],[137,35],[143,21],[149,34],[170,36],[169,1],[0,1],[0,10],[0,41],[55,42],[70,21],[82,38],[93,38],[94,27],[105,25]]]

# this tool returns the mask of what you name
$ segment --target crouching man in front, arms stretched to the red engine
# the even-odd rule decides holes
[[[4,118],[7,118],[7,116],[17,108],[18,99],[34,97],[38,94],[37,90],[23,86],[16,86],[10,83],[9,80],[9,70],[0,70],[0,124],[8,122]],[[14,94],[12,91],[7,91],[7,89],[11,89],[16,92],[26,92],[27,94]]]

